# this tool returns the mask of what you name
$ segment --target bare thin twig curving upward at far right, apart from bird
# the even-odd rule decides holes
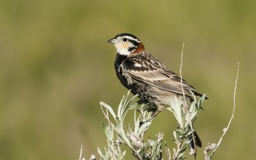
[[[228,125],[227,127],[225,127],[223,129],[223,134],[220,138],[220,140],[218,141],[216,147],[214,148],[214,150],[212,150],[212,153],[211,153],[211,156],[210,156],[210,159],[211,157],[214,155],[215,151],[217,150],[217,148],[220,146],[220,143],[221,141],[223,140],[223,137],[225,136],[225,134],[227,133],[228,129],[229,129],[229,126],[234,118],[234,113],[235,113],[235,110],[236,110],[236,85],[237,85],[237,79],[238,79],[238,73],[239,73],[239,62],[237,63],[237,74],[236,74],[236,81],[235,81],[235,88],[234,88],[234,97],[233,97],[233,100],[234,100],[234,107],[233,107],[233,112],[232,112],[232,115],[231,115],[231,118],[228,122]]]

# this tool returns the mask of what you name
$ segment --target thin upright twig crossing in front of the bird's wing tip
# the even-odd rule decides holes
[[[181,88],[182,88],[182,94],[183,94],[183,98],[184,98],[185,109],[186,109],[186,112],[188,113],[188,121],[189,121],[189,125],[190,125],[190,128],[191,128],[193,143],[194,143],[194,148],[195,148],[194,156],[195,156],[195,159],[196,159],[196,141],[195,141],[195,135],[194,135],[195,129],[194,129],[193,124],[192,124],[191,114],[188,110],[188,106],[187,106],[187,103],[186,103],[186,97],[185,97],[185,93],[184,93],[184,88],[183,88],[183,84],[182,84],[181,71],[182,71],[183,51],[184,51],[184,42],[183,42],[183,45],[182,45],[182,52],[181,52],[181,58],[180,58],[180,84],[181,84]]]

